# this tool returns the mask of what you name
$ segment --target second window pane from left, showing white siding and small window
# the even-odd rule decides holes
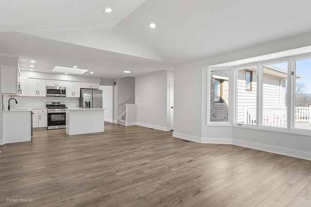
[[[237,71],[237,109],[236,122],[256,125],[257,121],[257,66],[239,68]]]

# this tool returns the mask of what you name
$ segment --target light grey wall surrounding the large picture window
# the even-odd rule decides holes
[[[173,136],[197,142],[234,143],[311,159],[311,139],[308,136],[242,127],[207,127],[206,66],[307,46],[311,46],[311,34],[176,66],[174,68]],[[190,131],[189,127],[193,127],[193,131]],[[252,137],[253,135],[255,136]]]

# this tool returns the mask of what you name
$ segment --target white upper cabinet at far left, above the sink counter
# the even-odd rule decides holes
[[[2,93],[17,95],[19,93],[20,71],[14,65],[1,65]]]

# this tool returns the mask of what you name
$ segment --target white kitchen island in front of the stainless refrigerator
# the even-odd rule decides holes
[[[66,109],[66,133],[69,135],[104,131],[104,109]]]

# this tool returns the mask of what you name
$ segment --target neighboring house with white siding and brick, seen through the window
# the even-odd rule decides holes
[[[256,124],[257,68],[238,70],[237,123]],[[263,125],[286,120],[287,71],[263,67]],[[228,121],[228,74],[211,72],[210,121]]]

